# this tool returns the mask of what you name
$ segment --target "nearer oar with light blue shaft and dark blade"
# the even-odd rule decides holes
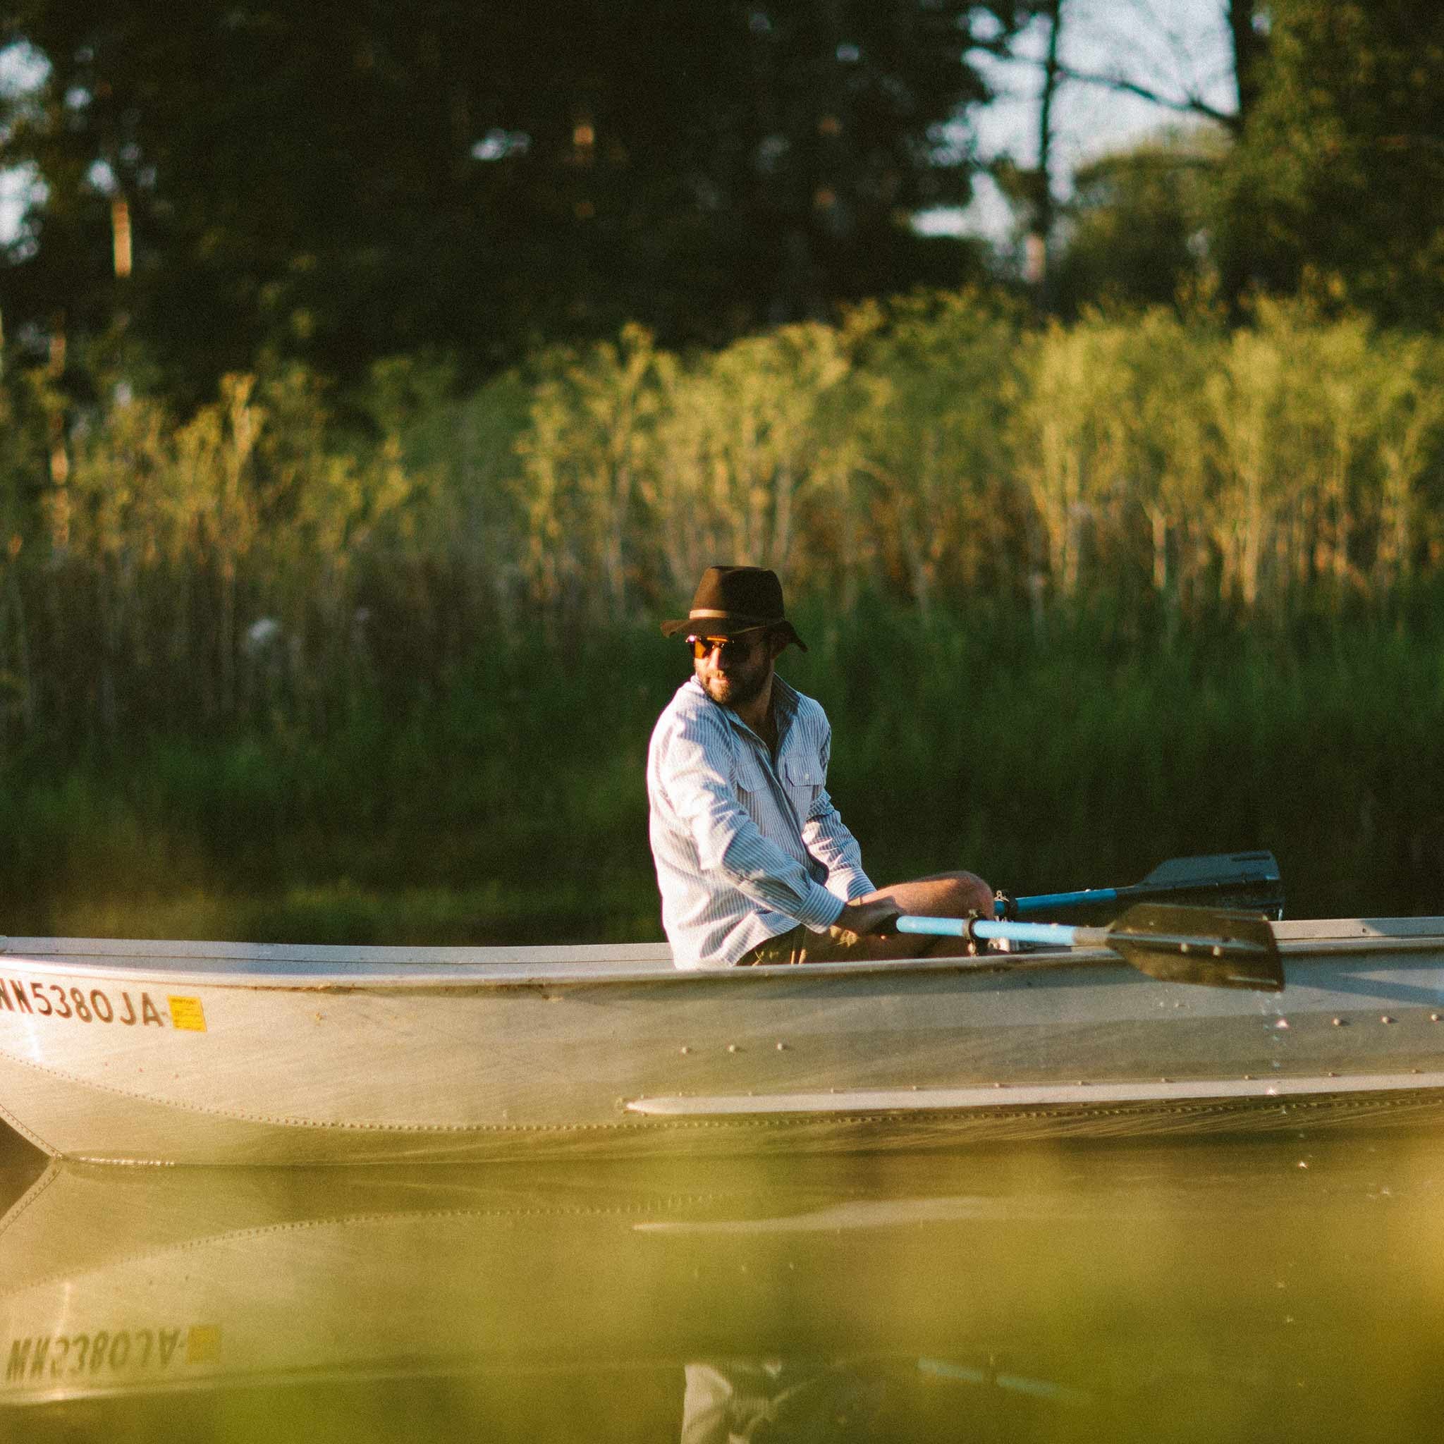
[[[1274,928],[1262,913],[1139,902],[1108,927],[1063,923],[989,923],[962,917],[900,917],[900,933],[936,933],[988,943],[1044,943],[1056,947],[1109,947],[1149,978],[1206,988],[1281,992]]]

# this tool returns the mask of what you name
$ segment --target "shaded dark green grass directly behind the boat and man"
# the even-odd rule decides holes
[[[1437,598],[1435,598],[1437,601]],[[1438,911],[1444,624],[1219,628],[813,604],[784,671],[833,721],[877,881],[1021,891],[1272,848],[1294,914]],[[650,630],[498,643],[323,736],[137,738],[0,786],[6,931],[656,937],[644,757],[687,658]]]

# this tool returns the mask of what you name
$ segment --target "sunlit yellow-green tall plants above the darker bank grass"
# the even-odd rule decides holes
[[[715,560],[852,614],[1005,598],[1035,625],[1388,611],[1444,560],[1437,342],[1261,305],[1030,329],[967,293],[677,355],[640,328],[464,401],[394,360],[334,417],[296,368],[0,449],[0,745],[323,732],[451,684],[498,630],[669,612]]]

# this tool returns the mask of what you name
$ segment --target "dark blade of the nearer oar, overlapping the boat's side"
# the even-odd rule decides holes
[[[1161,982],[1284,988],[1278,943],[1262,913],[1139,902],[1108,930],[1108,946]]]

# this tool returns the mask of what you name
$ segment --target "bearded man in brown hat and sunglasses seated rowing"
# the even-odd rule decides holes
[[[693,676],[657,719],[647,757],[661,921],[679,967],[917,957],[941,940],[891,930],[904,913],[992,915],[972,872],[875,888],[827,796],[832,729],[777,676],[807,650],[775,572],[709,566],[686,634]]]

